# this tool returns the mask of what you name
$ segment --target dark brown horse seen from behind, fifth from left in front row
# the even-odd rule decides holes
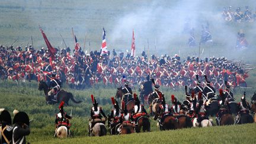
[[[148,117],[141,116],[139,119],[137,119],[137,127],[135,128],[136,132],[139,133],[140,129],[142,128],[143,132],[150,132],[151,123],[148,119]]]

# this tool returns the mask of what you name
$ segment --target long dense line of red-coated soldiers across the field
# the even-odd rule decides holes
[[[113,55],[112,55],[113,54]],[[228,60],[225,57],[210,57],[199,59],[190,57],[184,61],[178,55],[162,55],[151,58],[142,52],[141,56],[132,57],[130,53],[117,55],[115,50],[110,55],[100,56],[100,53],[85,54],[82,49],[62,49],[53,59],[48,50],[35,50],[32,46],[8,47],[0,46],[0,76],[2,79],[14,81],[48,81],[50,75],[56,73],[56,78],[66,82],[71,88],[84,89],[103,82],[104,85],[123,85],[124,78],[132,85],[142,84],[146,76],[156,79],[156,84],[177,89],[188,85],[196,85],[194,78],[207,75],[216,88],[223,87],[223,80],[228,81],[233,88],[246,87],[248,77],[247,65],[242,62]],[[205,84],[203,84],[205,85]]]

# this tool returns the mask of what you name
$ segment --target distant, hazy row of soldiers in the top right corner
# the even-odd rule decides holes
[[[223,8],[222,18],[225,21],[241,22],[253,22],[256,20],[256,11],[252,13],[249,6],[245,6],[245,11],[242,12],[240,7],[237,7],[235,11],[232,10],[232,6]]]

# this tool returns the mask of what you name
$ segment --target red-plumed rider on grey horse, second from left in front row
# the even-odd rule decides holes
[[[107,116],[105,116],[105,113],[103,112],[101,107],[98,107],[98,103],[95,100],[94,96],[91,95],[92,104],[94,105],[91,107],[91,120],[89,121],[89,128],[92,130],[92,127],[96,123],[104,123],[107,120]],[[103,118],[104,117],[104,118]]]

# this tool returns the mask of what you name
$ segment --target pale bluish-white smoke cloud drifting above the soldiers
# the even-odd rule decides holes
[[[224,4],[220,6],[219,3]],[[129,46],[132,30],[135,30],[136,48],[141,52],[146,47],[148,51],[147,39],[149,39],[150,54],[155,54],[155,44],[157,53],[170,54],[183,53],[186,55],[198,55],[200,35],[202,27],[209,24],[214,44],[222,47],[222,52],[209,50],[208,47],[201,45],[204,49],[203,56],[225,56],[233,57],[240,52],[233,51],[236,44],[236,34],[243,29],[245,24],[236,24],[236,29],[231,27],[222,18],[222,8],[232,5],[233,11],[236,7],[241,7],[245,11],[246,5],[255,4],[253,1],[154,1],[149,5],[133,9],[127,14],[122,15],[114,25],[111,33],[111,43],[121,41]],[[249,6],[250,7],[250,6]],[[251,9],[254,9],[251,7]],[[194,28],[197,46],[188,47],[189,29]],[[251,31],[255,30],[252,24]],[[252,40],[253,35],[250,31],[244,31],[248,41]],[[128,40],[128,41],[127,41]],[[126,42],[125,42],[126,41]],[[252,41],[251,41],[252,42]],[[254,47],[252,44],[250,47]],[[129,49],[129,48],[128,48]],[[188,49],[194,49],[194,53],[187,53]],[[232,54],[230,54],[232,51]],[[182,55],[182,54],[181,54]]]

